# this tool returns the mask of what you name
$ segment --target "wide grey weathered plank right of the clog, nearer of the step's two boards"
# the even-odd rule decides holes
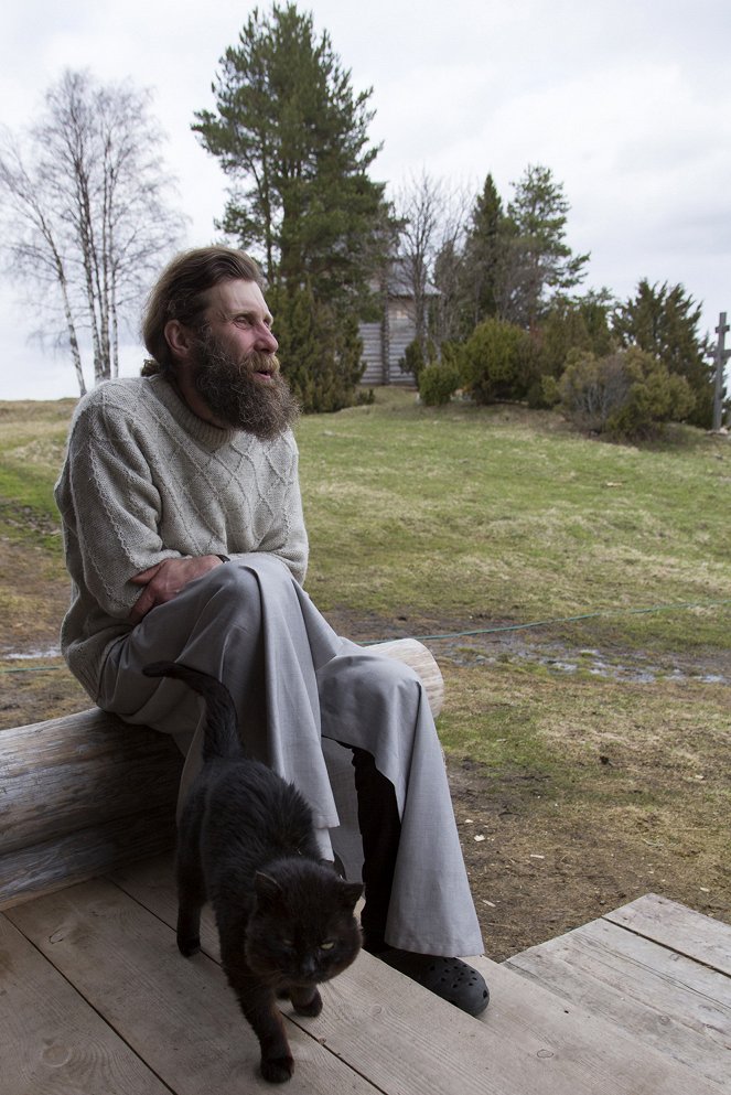
[[[731,981],[598,920],[505,965],[731,1092]]]

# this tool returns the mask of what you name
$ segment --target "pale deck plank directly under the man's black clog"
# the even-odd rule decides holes
[[[174,924],[172,869],[164,858],[131,865],[114,877],[155,915]],[[215,953],[211,919],[204,923],[203,940]],[[326,1007],[316,1029],[376,1086],[400,1095],[688,1095],[695,1084],[684,1066],[587,1009],[568,1007],[490,959],[477,958],[475,965],[493,992],[480,1022],[362,955],[325,986]],[[718,1095],[702,1080],[692,1091]]]

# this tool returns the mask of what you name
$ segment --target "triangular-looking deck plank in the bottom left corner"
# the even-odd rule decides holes
[[[2,915],[0,1030],[2,1095],[169,1095]]]

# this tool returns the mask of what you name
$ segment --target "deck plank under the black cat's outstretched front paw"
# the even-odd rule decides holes
[[[205,955],[181,958],[171,928],[119,889],[88,882],[6,915],[176,1095],[271,1093],[219,967]],[[374,1095],[314,1038],[291,1023],[289,1034],[292,1095]]]

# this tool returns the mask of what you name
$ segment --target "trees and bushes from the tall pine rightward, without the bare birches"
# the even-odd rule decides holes
[[[681,286],[646,281],[625,302],[579,294],[589,255],[567,243],[550,169],[528,167],[507,205],[491,175],[471,203],[426,174],[389,198],[370,178],[372,93],[353,92],[329,35],[293,4],[254,12],[214,94],[193,128],[232,180],[219,227],[262,256],[305,410],[356,398],[357,321],[378,316],[397,258],[416,326],[402,367],[424,401],[462,388],[633,436],[668,419],[710,426],[700,309]]]

